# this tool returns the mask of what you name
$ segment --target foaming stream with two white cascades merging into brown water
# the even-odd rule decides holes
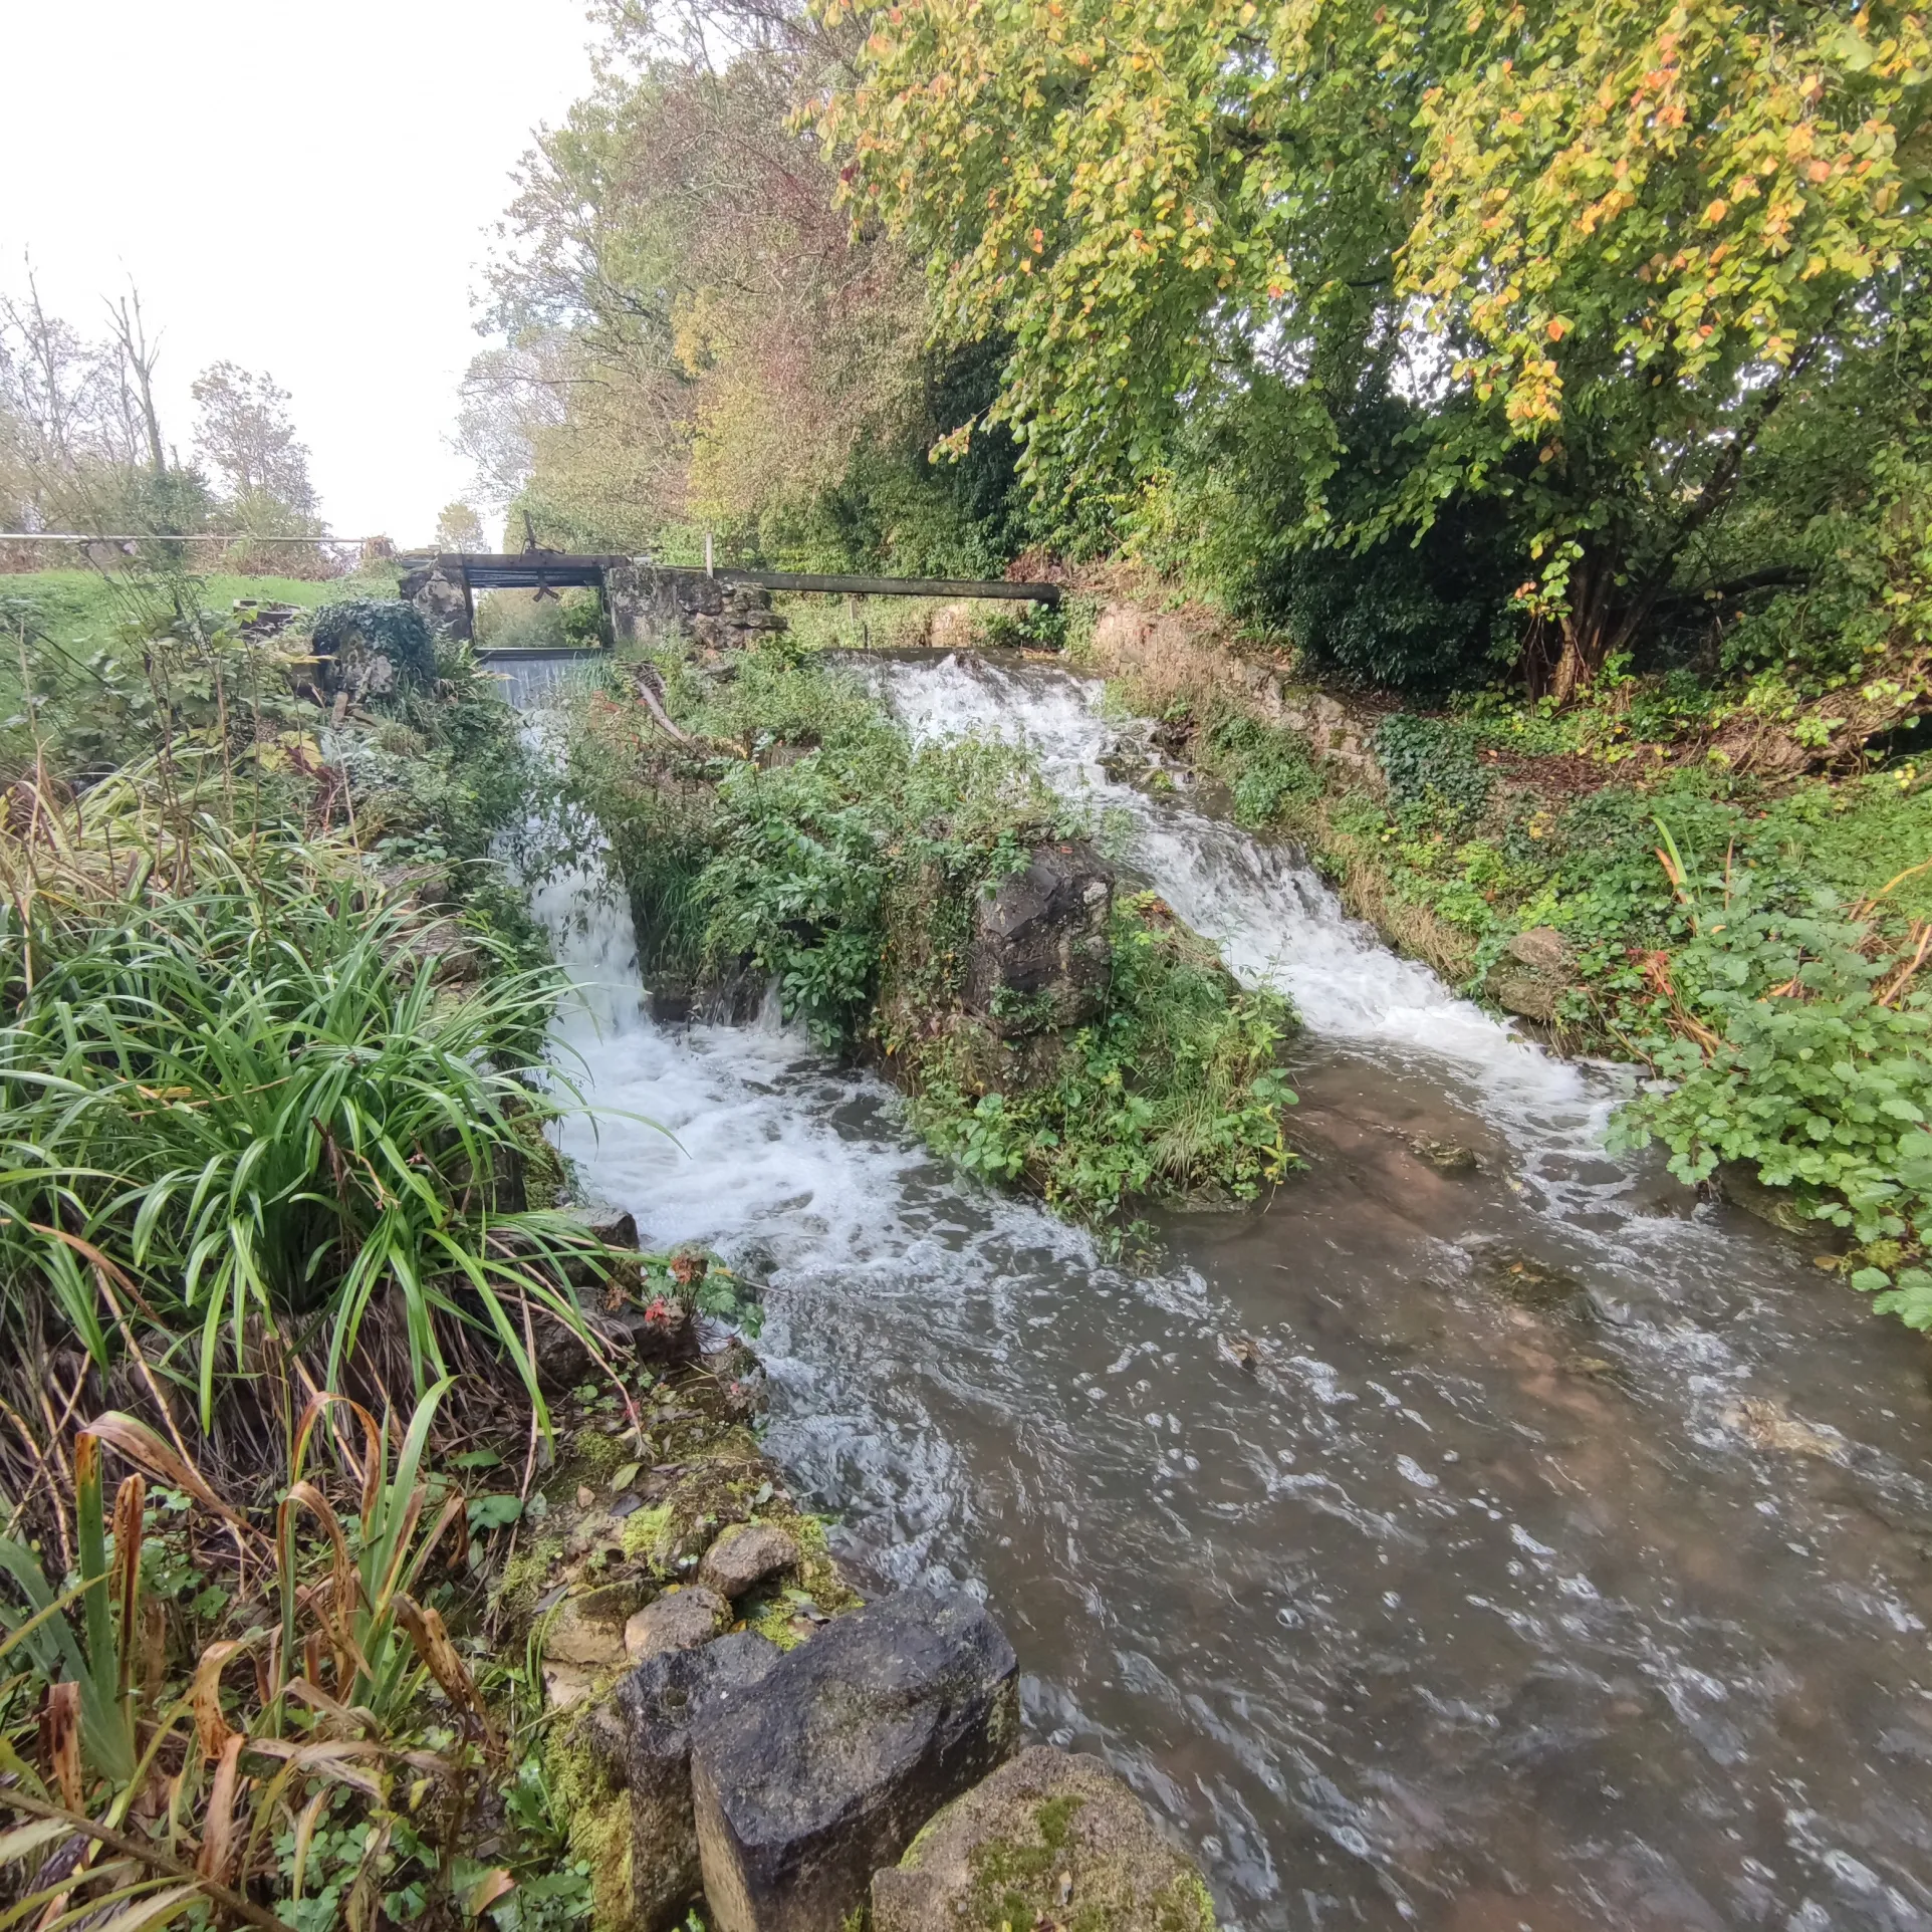
[[[1816,1242],[1611,1161],[1619,1088],[1349,922],[1294,852],[1113,782],[1097,688],[893,663],[1293,995],[1265,1208],[1151,1271],[960,1180],[773,1016],[661,1028],[599,881],[537,908],[655,1242],[769,1281],[769,1447],[881,1578],[985,1594],[1030,1729],[1107,1758],[1223,1920],[1932,1926],[1926,1349]]]

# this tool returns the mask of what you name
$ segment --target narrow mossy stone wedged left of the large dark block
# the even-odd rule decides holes
[[[636,1932],[665,1932],[697,1897],[692,1729],[734,1712],[771,1673],[779,1646],[753,1631],[638,1665],[612,1694],[616,1758],[630,1789],[630,1884]]]

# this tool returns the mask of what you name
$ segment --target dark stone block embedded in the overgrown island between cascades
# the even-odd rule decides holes
[[[966,1007],[1003,1037],[1097,1020],[1113,952],[1113,875],[1086,844],[1039,846],[980,900]]]

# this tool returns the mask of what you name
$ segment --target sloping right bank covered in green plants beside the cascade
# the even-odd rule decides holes
[[[1119,703],[1146,696],[1113,668]],[[1820,674],[1808,701],[1789,676],[1629,667],[1563,707],[1354,699],[1366,763],[1316,750],[1293,680],[1279,703],[1238,680],[1161,696],[1235,815],[1302,838],[1397,943],[1569,1051],[1634,1061],[1654,1084],[1619,1144],[1660,1142],[1692,1184],[1770,1188],[1824,1264],[1932,1327],[1932,782],[1909,748],[1845,755],[1806,730],[1808,705],[1857,707],[1857,676]]]

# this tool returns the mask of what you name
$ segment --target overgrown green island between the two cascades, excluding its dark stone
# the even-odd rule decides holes
[[[935,1148],[1084,1219],[1281,1179],[1293,1012],[1157,900],[1119,895],[1103,1009],[1045,1051],[964,1010],[981,896],[1088,833],[1022,752],[916,748],[788,639],[709,667],[667,651],[641,674],[682,742],[622,682],[583,697],[570,742],[647,964],[777,983],[825,1049],[893,1072]]]

